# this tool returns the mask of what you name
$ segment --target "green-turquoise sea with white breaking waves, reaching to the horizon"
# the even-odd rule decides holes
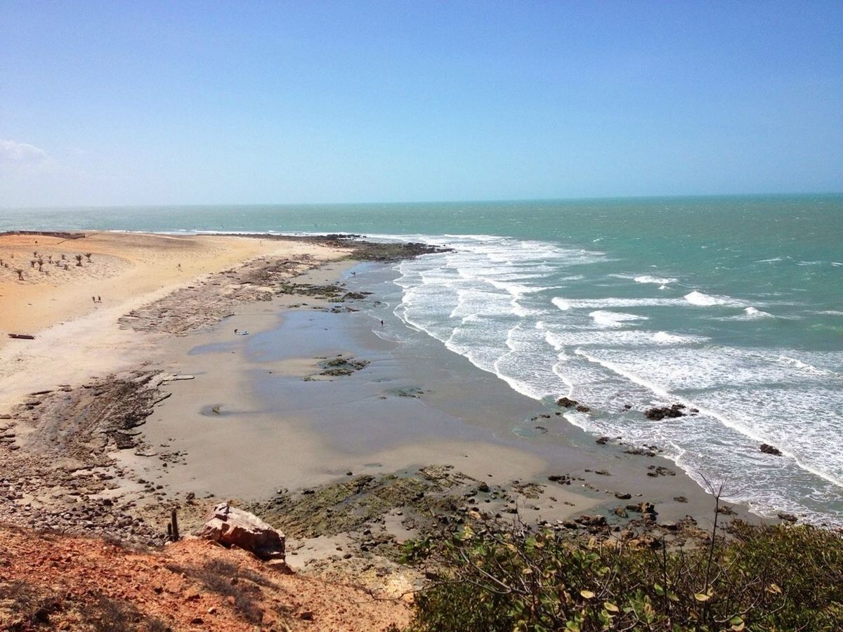
[[[762,515],[843,524],[843,195],[0,208],[13,229],[448,246],[394,270],[390,308],[431,344]],[[642,415],[674,403],[699,412]]]

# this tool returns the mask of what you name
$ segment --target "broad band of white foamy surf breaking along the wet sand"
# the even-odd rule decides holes
[[[430,243],[443,241],[431,238]],[[448,241],[456,252],[396,265],[403,297],[395,313],[411,327],[442,340],[518,393],[534,399],[567,394],[593,404],[591,415],[568,415],[577,426],[631,443],[657,443],[695,479],[698,473],[737,477],[735,484],[742,485],[737,500],[806,516],[819,515],[812,511],[823,503],[839,501],[835,485],[843,480],[843,449],[834,437],[843,433],[843,376],[830,369],[843,367],[843,353],[825,352],[820,359],[819,352],[737,349],[682,331],[686,324],[691,330],[716,328],[712,316],[771,319],[762,311],[771,303],[750,305],[701,290],[682,297],[669,288],[658,292],[661,297],[652,296],[655,288],[651,296],[635,298],[552,297],[541,293],[552,284],[572,281],[569,287],[574,287],[575,281],[598,280],[588,267],[572,266],[609,260],[600,253],[508,238]],[[678,283],[658,271],[616,276],[630,286],[632,281],[659,287],[667,285],[664,281]],[[586,291],[593,295],[599,286],[592,283]],[[639,287],[636,293],[647,291]],[[650,319],[640,318],[645,315]],[[671,318],[674,324],[663,324]],[[648,329],[650,324],[670,329]],[[642,423],[640,410],[654,399],[688,402],[701,413],[671,424]],[[625,413],[624,403],[634,410]],[[794,435],[797,410],[811,423],[800,423]],[[771,463],[759,453],[760,442],[780,447],[785,457]],[[743,464],[741,472],[735,459]],[[794,495],[794,489],[814,491]]]

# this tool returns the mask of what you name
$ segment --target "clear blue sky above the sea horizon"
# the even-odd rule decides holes
[[[0,0],[0,207],[841,190],[839,0]]]

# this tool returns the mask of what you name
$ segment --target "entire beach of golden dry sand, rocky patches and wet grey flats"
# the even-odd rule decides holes
[[[3,277],[0,293],[18,306],[4,310],[4,333],[35,335],[3,340],[0,351],[3,519],[154,542],[169,506],[191,527],[219,499],[267,509],[320,487],[421,473],[447,481],[436,491],[466,503],[455,510],[517,512],[555,528],[582,528],[572,519],[583,515],[607,532],[632,521],[675,531],[689,516],[710,523],[711,495],[658,447],[595,442],[564,408],[411,332],[381,300],[392,266],[349,260],[342,245],[3,237],[0,249],[16,259],[31,249],[94,253],[76,279]],[[98,292],[102,303],[91,301]],[[105,499],[120,512],[104,511]],[[347,560],[337,543],[400,544],[419,526],[401,502],[365,526],[300,525],[291,550],[307,565],[326,550]],[[642,515],[647,503],[658,512]]]

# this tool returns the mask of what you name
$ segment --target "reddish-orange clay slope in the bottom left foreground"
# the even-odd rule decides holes
[[[411,607],[205,540],[163,550],[0,526],[3,630],[385,630]]]

